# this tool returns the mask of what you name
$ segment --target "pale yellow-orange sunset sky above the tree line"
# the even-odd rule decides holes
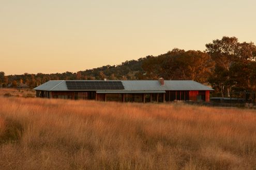
[[[0,0],[0,71],[77,72],[223,36],[256,43],[256,1]]]

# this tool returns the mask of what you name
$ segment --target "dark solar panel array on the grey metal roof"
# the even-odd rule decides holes
[[[122,90],[121,81],[66,81],[69,90]]]

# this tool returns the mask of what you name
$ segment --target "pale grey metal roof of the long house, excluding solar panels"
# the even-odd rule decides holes
[[[81,81],[81,80],[79,80]],[[87,80],[84,80],[87,81]],[[108,80],[111,81],[111,80]],[[95,90],[99,93],[103,92],[162,92],[165,90],[214,90],[203,84],[192,80],[164,80],[164,85],[161,86],[158,80],[122,80],[124,90]],[[34,90],[46,91],[85,91],[82,89],[68,90],[65,80],[49,81],[34,88]],[[89,89],[90,90],[90,89]],[[86,91],[89,91],[86,90]]]

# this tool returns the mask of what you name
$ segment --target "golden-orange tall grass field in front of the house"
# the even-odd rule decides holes
[[[0,103],[1,170],[256,169],[255,110],[21,97]]]

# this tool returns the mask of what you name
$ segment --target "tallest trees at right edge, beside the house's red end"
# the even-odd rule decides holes
[[[256,47],[252,42],[239,43],[236,37],[223,37],[206,44],[206,52],[215,63],[208,81],[222,96],[231,91],[252,90],[251,80]]]

